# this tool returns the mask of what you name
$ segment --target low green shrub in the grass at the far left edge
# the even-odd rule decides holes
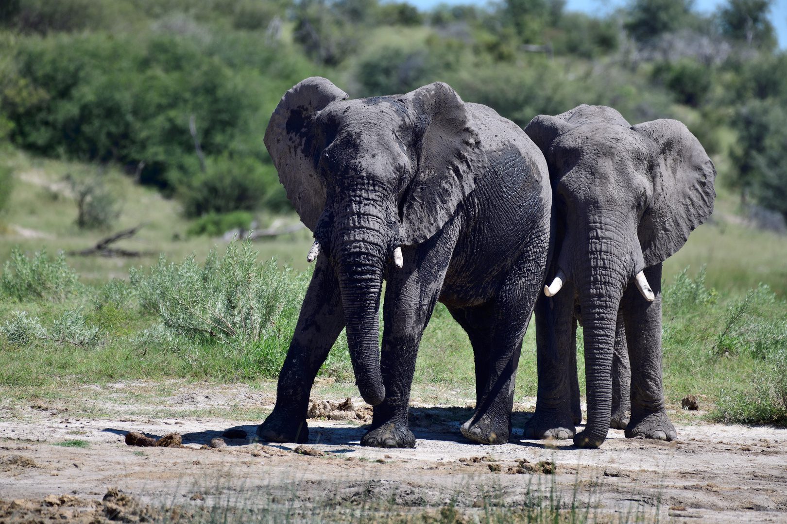
[[[20,302],[29,299],[59,302],[82,290],[79,275],[65,262],[65,256],[49,258],[44,248],[31,259],[19,247],[14,247],[0,276],[0,292]]]

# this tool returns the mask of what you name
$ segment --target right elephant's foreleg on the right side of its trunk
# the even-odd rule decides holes
[[[678,437],[664,406],[661,370],[661,264],[645,269],[656,299],[646,301],[636,286],[623,293],[620,308],[626,322],[631,363],[631,416],[626,437],[674,440]]]

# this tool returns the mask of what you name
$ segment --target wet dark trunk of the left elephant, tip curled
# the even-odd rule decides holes
[[[388,252],[381,233],[384,230],[382,224],[344,229],[334,240],[333,250],[349,356],[360,395],[370,405],[379,405],[386,398],[379,354],[379,304]]]

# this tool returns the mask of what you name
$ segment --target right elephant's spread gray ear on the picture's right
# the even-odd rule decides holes
[[[639,225],[645,266],[653,266],[683,247],[689,233],[711,216],[716,168],[678,120],[653,120],[631,129],[649,137],[655,148],[652,202]]]

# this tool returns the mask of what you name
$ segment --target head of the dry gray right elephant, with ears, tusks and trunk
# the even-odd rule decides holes
[[[525,132],[549,165],[556,245],[548,296],[571,280],[582,314],[588,424],[597,446],[611,410],[611,355],[623,291],[654,294],[643,269],[678,251],[713,211],[715,167],[677,120],[631,126],[612,108],[581,105],[537,116]]]

